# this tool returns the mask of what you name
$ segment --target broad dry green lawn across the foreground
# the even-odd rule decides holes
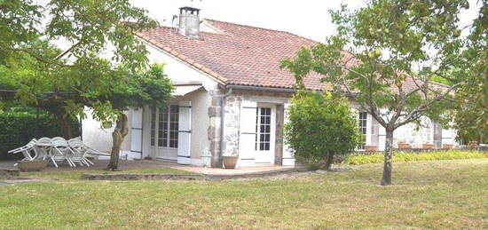
[[[0,186],[4,228],[488,228],[488,159],[297,178]]]

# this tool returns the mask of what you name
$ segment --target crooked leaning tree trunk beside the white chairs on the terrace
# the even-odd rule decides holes
[[[114,146],[110,153],[110,163],[106,166],[107,171],[116,171],[119,169],[119,153],[121,152],[122,142],[127,133],[129,133],[127,115],[122,114],[117,118],[114,132],[112,132]]]

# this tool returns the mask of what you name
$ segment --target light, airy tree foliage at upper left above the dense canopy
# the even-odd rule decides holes
[[[113,44],[114,61],[144,67],[147,51],[134,32],[157,25],[146,13],[128,0],[0,1],[0,63],[27,54],[47,65],[75,67],[59,57],[91,58]],[[71,45],[66,52],[45,55],[46,47],[33,44],[39,37]]]

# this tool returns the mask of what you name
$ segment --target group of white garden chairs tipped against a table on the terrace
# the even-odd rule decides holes
[[[59,163],[65,161],[70,167],[76,167],[75,163],[90,167],[93,163],[87,158],[87,155],[109,156],[109,154],[85,146],[80,138],[66,140],[61,137],[32,139],[27,145],[12,149],[9,153],[22,153],[24,155],[22,161],[48,160],[56,168]]]

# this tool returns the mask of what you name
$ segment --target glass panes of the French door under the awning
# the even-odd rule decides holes
[[[179,107],[153,108],[151,113],[151,146],[178,147]]]

